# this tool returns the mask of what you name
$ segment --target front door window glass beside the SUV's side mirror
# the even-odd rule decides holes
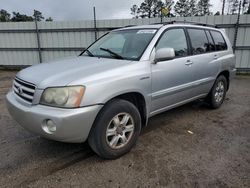
[[[188,54],[187,40],[183,29],[171,29],[166,31],[159,40],[156,49],[174,48],[176,57]]]

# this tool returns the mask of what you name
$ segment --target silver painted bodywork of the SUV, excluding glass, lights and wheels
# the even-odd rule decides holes
[[[205,97],[220,72],[229,71],[230,79],[235,75],[235,56],[224,32],[227,51],[154,63],[154,46],[158,38],[166,29],[177,26],[189,27],[186,24],[132,27],[158,29],[139,61],[79,56],[20,71],[18,78],[36,85],[35,96],[33,103],[29,104],[10,91],[7,106],[11,115],[23,127],[43,137],[64,142],[84,142],[99,111],[118,95],[140,93],[145,99],[149,118]],[[39,104],[44,89],[69,85],[86,86],[80,108],[62,109]],[[44,119],[48,118],[56,122],[57,131],[54,134],[48,134],[41,128]]]

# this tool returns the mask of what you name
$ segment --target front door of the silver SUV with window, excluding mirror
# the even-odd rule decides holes
[[[174,48],[175,59],[151,65],[152,71],[152,106],[155,114],[173,105],[193,97],[191,83],[195,74],[192,61],[188,56],[188,44],[183,28],[172,28],[165,31],[155,46]]]

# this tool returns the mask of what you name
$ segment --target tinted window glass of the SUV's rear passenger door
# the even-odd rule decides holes
[[[209,42],[204,30],[188,29],[193,54],[203,54],[210,51]]]

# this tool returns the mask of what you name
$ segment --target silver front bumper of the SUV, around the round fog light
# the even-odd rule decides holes
[[[12,91],[7,94],[6,98],[10,114],[22,127],[42,137],[62,142],[81,143],[86,141],[92,124],[102,108],[102,105],[77,109],[43,105],[25,106],[16,100]],[[53,134],[43,129],[47,119],[56,124],[56,131]]]

